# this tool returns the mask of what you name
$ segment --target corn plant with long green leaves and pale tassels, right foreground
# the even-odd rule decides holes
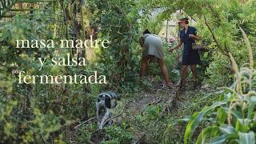
[[[240,70],[232,54],[230,60],[234,69],[234,83],[225,87],[218,102],[194,113],[186,126],[184,143],[194,143],[194,132],[200,123],[200,134],[196,143],[255,143],[256,131],[256,70],[250,42],[242,31],[249,54],[249,63]],[[202,128],[204,127],[205,128]]]

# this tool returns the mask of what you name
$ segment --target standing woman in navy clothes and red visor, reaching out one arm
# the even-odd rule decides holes
[[[179,32],[179,42],[177,46],[170,48],[169,51],[178,49],[180,46],[182,46],[182,44],[184,44],[182,51],[182,80],[180,85],[180,88],[182,89],[186,86],[187,66],[190,66],[191,68],[196,85],[196,66],[200,64],[201,61],[198,50],[192,49],[192,43],[194,43],[195,40],[200,40],[200,38],[197,35],[196,28],[189,26],[189,18],[179,19],[178,26],[182,29]]]

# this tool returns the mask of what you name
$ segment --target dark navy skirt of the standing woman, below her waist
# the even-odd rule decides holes
[[[182,54],[182,65],[198,65],[201,63],[200,56],[197,50],[190,51],[190,53]]]

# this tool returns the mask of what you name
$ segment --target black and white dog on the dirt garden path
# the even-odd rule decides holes
[[[110,112],[111,109],[114,109],[120,100],[120,96],[118,94],[108,91],[108,92],[103,92],[101,94],[98,94],[98,99],[96,102],[96,118],[99,126],[99,130],[102,130],[102,127],[104,125],[104,122],[106,121],[106,118],[110,117],[110,122],[112,122],[112,114]],[[106,110],[106,114],[102,117],[102,122],[100,122],[99,119],[99,113],[100,111],[104,109]]]

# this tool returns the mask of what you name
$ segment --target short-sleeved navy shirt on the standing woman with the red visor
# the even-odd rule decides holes
[[[179,38],[182,39],[184,44],[183,54],[189,54],[194,51],[192,50],[192,43],[194,43],[195,40],[193,38],[189,38],[189,34],[197,35],[197,29],[193,26],[188,26],[186,33],[185,29],[179,32]]]

